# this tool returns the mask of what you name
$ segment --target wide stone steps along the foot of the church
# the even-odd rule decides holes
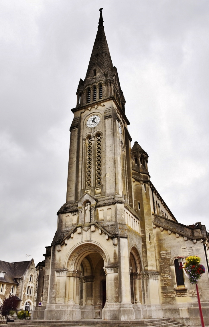
[[[183,324],[171,319],[140,319],[140,320],[16,320],[9,322],[7,325],[15,327],[183,327]],[[1,327],[6,327],[1,324]]]

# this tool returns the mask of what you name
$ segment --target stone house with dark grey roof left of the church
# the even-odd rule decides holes
[[[20,262],[0,261],[0,304],[9,294],[13,294],[20,301],[19,308],[32,309],[36,276],[33,259]]]

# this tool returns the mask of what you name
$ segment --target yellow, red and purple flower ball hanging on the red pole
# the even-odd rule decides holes
[[[200,265],[201,258],[195,255],[190,255],[186,258],[184,269],[188,275],[190,284],[196,284],[201,275],[205,273],[205,267]]]

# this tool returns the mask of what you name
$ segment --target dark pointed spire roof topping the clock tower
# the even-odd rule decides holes
[[[99,66],[99,68],[102,70],[102,72],[105,72],[105,74],[108,74],[109,78],[113,79],[113,75],[112,75],[113,63],[112,63],[109,47],[108,47],[105,32],[104,32],[101,9],[100,9],[98,31],[96,34],[96,39],[95,39],[95,43],[93,46],[91,58],[89,61],[86,77],[94,63],[96,63]]]

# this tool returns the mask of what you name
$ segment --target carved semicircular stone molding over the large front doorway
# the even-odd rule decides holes
[[[68,269],[69,271],[73,271],[75,269],[78,270],[78,266],[80,266],[83,258],[92,252],[98,252],[104,260],[104,265],[109,265],[109,255],[100,244],[97,242],[81,242],[79,246],[76,245],[68,252],[63,268]]]

